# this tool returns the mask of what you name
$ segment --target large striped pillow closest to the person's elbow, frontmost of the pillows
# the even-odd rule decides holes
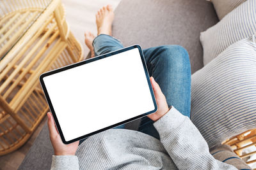
[[[229,46],[192,75],[191,120],[210,148],[256,128],[255,36]]]

